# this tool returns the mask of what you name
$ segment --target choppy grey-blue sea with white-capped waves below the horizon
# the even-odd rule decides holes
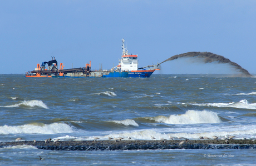
[[[255,77],[25,78],[24,74],[0,74],[0,142],[95,137],[160,140],[169,135],[190,140],[213,135],[256,139],[255,118]],[[0,148],[0,165],[255,165],[255,157],[253,148]]]

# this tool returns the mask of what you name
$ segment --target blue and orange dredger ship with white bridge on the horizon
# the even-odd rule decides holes
[[[124,46],[125,40],[122,39],[122,57],[119,64],[109,70],[91,70],[91,61],[85,67],[63,69],[60,63],[58,69],[57,60],[52,57],[52,61],[38,63],[35,71],[26,72],[25,77],[150,77],[152,73],[159,69],[159,64],[138,68],[138,56],[129,54]],[[47,64],[47,67],[46,67]]]

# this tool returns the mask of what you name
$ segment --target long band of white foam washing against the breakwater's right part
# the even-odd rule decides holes
[[[239,126],[224,126],[224,127],[206,127],[206,128],[165,128],[165,129],[150,129],[150,130],[135,130],[134,132],[123,132],[123,133],[112,133],[105,135],[104,137],[99,137],[100,139],[107,139],[108,137],[131,137],[135,140],[151,140],[151,136],[156,140],[161,138],[169,139],[168,135],[178,139],[178,137],[184,137],[189,139],[199,139],[199,136],[212,137],[215,135],[219,138],[223,138],[226,135],[234,135],[234,139],[255,139],[256,134],[255,125],[239,125]],[[92,138],[91,138],[92,139]]]

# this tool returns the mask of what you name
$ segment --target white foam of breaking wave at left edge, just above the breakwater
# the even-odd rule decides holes
[[[72,127],[65,123],[24,124],[17,126],[0,126],[0,134],[56,134],[72,133]]]

